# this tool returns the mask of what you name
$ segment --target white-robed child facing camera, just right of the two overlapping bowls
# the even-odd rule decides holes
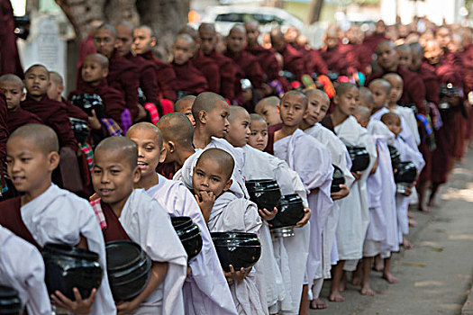
[[[318,140],[299,130],[299,124],[303,121],[307,111],[308,100],[305,94],[299,91],[289,91],[281,98],[277,106],[281,116],[282,128],[274,133],[274,153],[287,162],[301,177],[308,191],[308,205],[316,209],[316,215],[311,220],[309,229],[310,241],[305,269],[307,284],[298,287],[296,294],[301,296],[301,313],[309,311],[309,296],[312,300],[312,291],[308,292],[314,283],[317,270],[322,264],[322,232],[325,227],[329,212],[332,210],[332,198],[330,188],[332,184],[332,158],[329,151]],[[311,157],[307,160],[306,157]],[[304,280],[304,275],[299,281]],[[296,301],[301,300],[299,297]]]

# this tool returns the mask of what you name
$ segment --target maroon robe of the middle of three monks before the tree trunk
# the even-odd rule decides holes
[[[138,67],[140,88],[146,97],[146,101],[154,104],[159,104],[158,96],[158,79],[156,76],[155,65],[152,61],[135,56],[129,52],[123,56]]]

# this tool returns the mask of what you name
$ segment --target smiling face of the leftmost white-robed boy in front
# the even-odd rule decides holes
[[[7,172],[20,193],[39,195],[59,164],[57,152],[45,154],[32,138],[14,137],[6,143]]]

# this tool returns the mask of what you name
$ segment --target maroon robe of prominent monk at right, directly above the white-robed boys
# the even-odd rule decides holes
[[[365,85],[368,85],[374,79],[381,78],[387,73],[392,71],[380,71],[368,77]],[[424,103],[425,100],[425,85],[423,85],[423,79],[421,76],[406,69],[403,66],[397,66],[396,74],[403,78],[403,95],[401,96],[400,103],[405,105],[414,104],[417,108],[417,112],[423,115],[427,114],[427,106]]]

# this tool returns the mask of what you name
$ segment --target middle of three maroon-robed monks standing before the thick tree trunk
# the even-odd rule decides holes
[[[146,102],[154,103],[160,106],[158,96],[158,78],[156,76],[155,64],[132,52],[133,26],[127,22],[121,22],[115,25],[117,40],[115,48],[118,53],[131,61],[138,67],[138,76],[140,78],[140,88],[146,97]]]

